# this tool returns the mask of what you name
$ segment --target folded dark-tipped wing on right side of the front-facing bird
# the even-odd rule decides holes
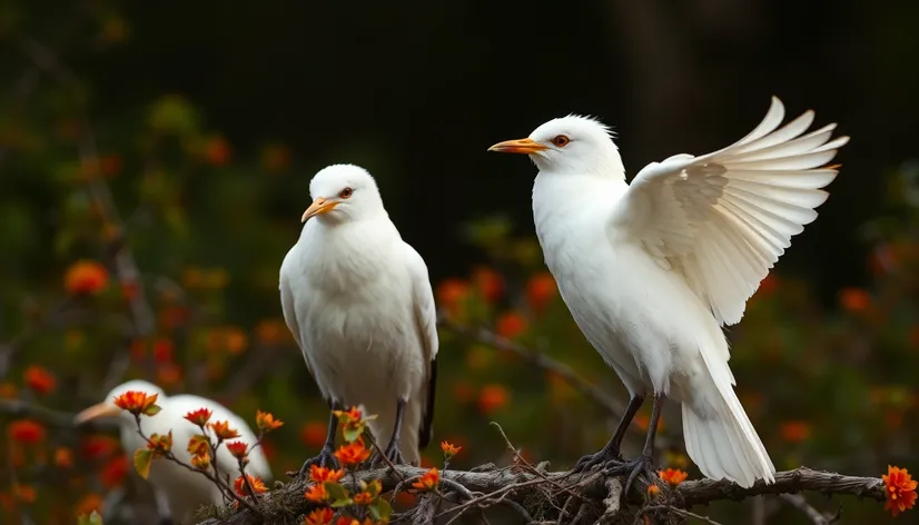
[[[412,297],[415,305],[415,323],[417,325],[418,337],[424,349],[424,357],[427,367],[426,377],[426,399],[422,426],[418,428],[418,447],[424,448],[431,443],[434,433],[434,398],[437,384],[437,310],[434,305],[434,291],[431,289],[431,281],[427,277],[427,265],[422,256],[414,248],[405,245],[408,252],[407,266],[412,275]]]

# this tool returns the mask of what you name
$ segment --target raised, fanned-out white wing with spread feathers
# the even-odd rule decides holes
[[[849,141],[830,140],[834,123],[802,135],[813,111],[779,128],[783,118],[773,97],[762,122],[732,146],[648,165],[612,214],[616,235],[681,273],[722,325],[743,317],[791,237],[817,218],[828,197],[820,188],[838,172],[826,164]]]

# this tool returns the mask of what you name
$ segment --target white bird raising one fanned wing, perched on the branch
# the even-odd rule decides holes
[[[824,166],[848,142],[836,125],[804,131],[807,111],[780,129],[778,98],[762,122],[724,149],[652,162],[631,186],[610,131],[569,116],[492,151],[527,153],[540,172],[533,217],[546,265],[577,326],[616,372],[631,399],[610,443],[576,468],[651,474],[661,405],[682,405],[689,456],[710,478],[749,487],[775,468],[733,390],[721,326],[817,218]],[[620,463],[620,444],[644,396],[652,424],[642,455]]]

